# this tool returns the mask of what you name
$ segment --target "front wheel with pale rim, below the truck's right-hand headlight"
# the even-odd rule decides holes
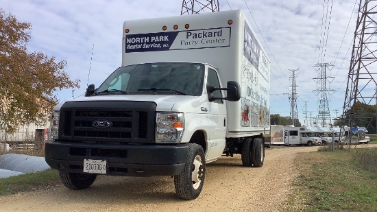
[[[189,143],[189,153],[183,171],[174,176],[175,193],[184,200],[195,200],[206,178],[206,158],[202,146]]]

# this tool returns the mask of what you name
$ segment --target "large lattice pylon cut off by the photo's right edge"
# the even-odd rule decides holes
[[[350,120],[352,114],[358,113],[352,108],[356,102],[369,105],[377,98],[374,79],[377,74],[376,13],[376,0],[360,0],[343,105],[343,115],[348,115]]]

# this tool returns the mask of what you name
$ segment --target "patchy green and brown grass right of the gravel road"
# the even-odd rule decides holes
[[[377,211],[376,158],[360,148],[297,154],[287,211]]]

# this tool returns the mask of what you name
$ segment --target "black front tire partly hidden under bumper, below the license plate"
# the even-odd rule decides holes
[[[97,178],[96,174],[80,174],[70,172],[60,172],[60,180],[65,187],[72,190],[87,189]]]

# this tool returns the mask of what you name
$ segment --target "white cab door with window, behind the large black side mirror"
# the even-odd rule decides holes
[[[213,67],[207,69],[207,85],[220,88],[219,75]],[[214,91],[215,97],[223,97],[222,91]],[[223,153],[226,145],[226,103],[222,99],[217,99],[208,104],[208,120],[210,132],[208,135],[208,150],[206,160],[215,159]]]

